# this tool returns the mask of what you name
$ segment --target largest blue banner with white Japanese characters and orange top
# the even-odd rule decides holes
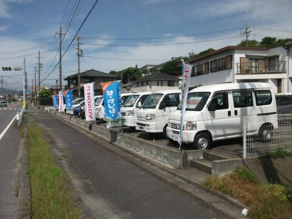
[[[121,98],[119,81],[101,83],[107,128],[121,126]]]

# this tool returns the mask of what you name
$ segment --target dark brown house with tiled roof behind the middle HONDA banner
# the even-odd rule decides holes
[[[117,77],[113,74],[108,74],[105,72],[100,72],[94,69],[80,73],[80,98],[84,97],[84,84],[91,82],[94,83],[94,95],[102,95],[101,83],[114,81],[114,78]],[[73,90],[73,97],[79,97],[79,88],[78,88],[78,74],[73,74],[64,79],[67,81],[67,90]]]

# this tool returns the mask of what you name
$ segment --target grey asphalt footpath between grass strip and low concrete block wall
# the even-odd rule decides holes
[[[86,217],[229,218],[152,174],[144,168],[143,161],[125,158],[124,152],[102,139],[45,112],[28,113],[52,137],[56,160],[62,160],[77,186]]]

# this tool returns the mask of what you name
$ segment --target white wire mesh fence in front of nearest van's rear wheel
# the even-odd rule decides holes
[[[272,123],[278,125],[272,125]],[[265,157],[292,150],[292,114],[243,117],[243,158]]]

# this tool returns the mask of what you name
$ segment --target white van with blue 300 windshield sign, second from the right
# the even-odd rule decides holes
[[[168,115],[177,109],[181,100],[181,90],[155,91],[139,107],[136,129],[166,135]],[[140,106],[140,104],[139,104]]]

